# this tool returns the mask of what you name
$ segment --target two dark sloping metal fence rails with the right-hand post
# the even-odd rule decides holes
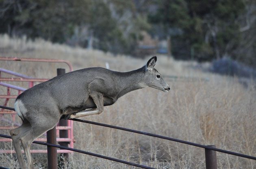
[[[14,110],[14,108],[6,107],[6,106],[0,106],[0,108],[4,108],[4,109],[8,109],[8,110]],[[179,143],[182,143],[182,144],[188,144],[188,145],[191,145],[191,146],[204,148],[205,149],[205,158],[206,158],[206,169],[217,169],[217,161],[216,161],[216,153],[215,153],[216,151],[226,153],[226,154],[231,154],[231,155],[234,155],[234,156],[240,156],[240,157],[243,157],[243,158],[256,160],[256,157],[254,157],[254,156],[249,156],[249,155],[245,155],[245,154],[241,154],[241,153],[237,153],[237,152],[231,152],[231,151],[228,151],[228,150],[222,150],[222,149],[219,149],[219,148],[215,148],[215,146],[206,146],[206,145],[197,144],[197,143],[193,143],[193,142],[187,142],[187,141],[180,140],[180,139],[166,137],[166,136],[163,136],[163,135],[157,135],[157,134],[152,134],[152,133],[148,133],[148,132],[144,132],[144,131],[127,129],[127,128],[124,128],[124,127],[107,125],[107,124],[103,124],[103,123],[96,123],[96,122],[92,122],[92,121],[88,121],[88,120],[81,120],[81,119],[77,119],[77,118],[69,119],[69,120],[73,120],[73,121],[77,121],[77,122],[81,122],[81,123],[99,125],[99,126],[102,126],[102,127],[109,127],[109,128],[123,130],[123,131],[129,131],[129,132],[132,132],[132,133],[148,135],[148,136],[151,136],[151,137],[157,137],[157,138],[166,139],[166,140],[169,140],[169,141],[174,141],[174,142],[179,142]],[[2,134],[0,134],[0,137],[11,138],[8,135],[2,135]],[[65,150],[70,150],[70,151],[79,152],[79,153],[83,153],[83,154],[88,154],[88,155],[91,155],[91,156],[96,156],[96,157],[99,157],[99,158],[105,158],[105,159],[108,159],[108,160],[111,160],[111,161],[116,161],[116,162],[119,162],[119,163],[124,163],[124,164],[127,164],[127,165],[132,165],[132,166],[141,167],[141,168],[145,168],[145,169],[153,169],[152,167],[148,167],[148,166],[145,166],[145,165],[131,163],[131,162],[128,162],[128,161],[123,161],[123,160],[117,159],[117,158],[102,156],[100,154],[86,152],[86,151],[78,150],[78,149],[74,149],[74,148],[68,148],[68,147],[65,147],[65,146],[59,146],[59,145],[56,145],[56,144],[37,142],[37,141],[35,141],[33,143],[42,144],[42,145],[46,145],[46,146],[52,146],[52,147],[56,147],[56,148],[62,148],[62,149],[65,149]]]

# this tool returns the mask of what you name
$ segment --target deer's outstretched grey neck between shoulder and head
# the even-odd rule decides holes
[[[117,98],[125,95],[130,91],[147,87],[144,83],[145,67],[142,67],[138,70],[133,70],[131,72],[120,72],[117,74],[117,76],[117,87],[119,89]]]

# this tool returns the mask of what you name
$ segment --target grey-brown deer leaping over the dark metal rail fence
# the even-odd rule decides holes
[[[60,118],[80,118],[101,114],[104,106],[114,104],[130,91],[153,87],[168,92],[169,85],[154,68],[157,57],[130,72],[115,72],[105,68],[85,68],[56,76],[27,89],[15,100],[14,108],[22,125],[10,130],[21,169],[26,169],[20,142],[29,169],[33,168],[30,154],[32,142],[54,128]]]

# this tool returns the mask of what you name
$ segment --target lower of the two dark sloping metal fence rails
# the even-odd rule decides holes
[[[3,134],[0,134],[0,137],[11,138],[11,136],[9,136],[9,135],[3,135]],[[52,147],[56,147],[56,148],[62,148],[62,149],[65,149],[65,150],[70,150],[70,151],[74,151],[74,152],[79,152],[79,153],[87,154],[87,155],[90,155],[90,156],[96,156],[96,157],[104,158],[104,159],[107,159],[107,160],[115,161],[115,162],[118,162],[118,163],[124,163],[124,164],[132,165],[132,166],[135,166],[135,167],[141,167],[141,168],[143,168],[143,169],[155,169],[155,168],[148,167],[148,166],[145,166],[145,165],[140,165],[140,164],[136,164],[136,163],[132,163],[132,162],[120,160],[120,159],[117,159],[117,158],[112,158],[112,157],[108,157],[108,156],[103,156],[103,155],[95,154],[95,153],[92,153],[92,152],[87,152],[87,151],[83,151],[83,150],[78,150],[78,149],[75,149],[75,148],[69,148],[69,147],[65,147],[65,146],[59,146],[59,145],[56,145],[56,144],[50,144],[50,143],[38,142],[38,141],[34,141],[33,143],[35,143],[35,144],[41,144],[41,145],[45,145],[45,146],[52,146]]]

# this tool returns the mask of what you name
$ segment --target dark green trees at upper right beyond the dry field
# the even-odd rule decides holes
[[[232,53],[239,44],[242,0],[163,0],[158,6],[149,19],[164,25],[166,36],[172,36],[175,57],[211,60]],[[182,34],[172,32],[173,28]]]

